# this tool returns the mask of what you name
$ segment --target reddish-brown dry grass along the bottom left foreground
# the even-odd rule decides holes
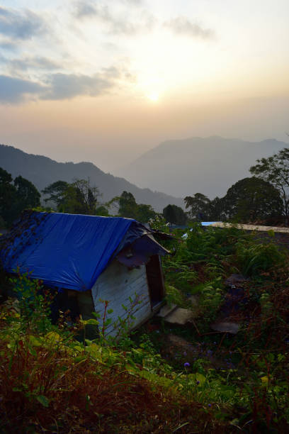
[[[118,366],[49,347],[31,351],[25,340],[13,357],[6,343],[0,351],[1,433],[224,432],[200,404]]]

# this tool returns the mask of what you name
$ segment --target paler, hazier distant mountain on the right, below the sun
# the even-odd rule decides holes
[[[274,139],[246,142],[212,136],[169,140],[116,172],[140,187],[181,197],[203,193],[213,199],[224,196],[239,179],[251,176],[249,168],[257,158],[288,147],[289,143]]]

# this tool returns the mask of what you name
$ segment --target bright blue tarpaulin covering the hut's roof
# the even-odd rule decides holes
[[[91,289],[135,222],[130,218],[27,213],[1,241],[7,272],[30,272],[48,286]],[[133,225],[132,225],[133,226]]]

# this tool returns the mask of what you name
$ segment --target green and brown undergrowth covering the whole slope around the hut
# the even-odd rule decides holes
[[[191,328],[154,322],[118,343],[84,345],[64,318],[50,323],[39,282],[22,281],[21,300],[0,318],[0,430],[288,431],[288,255],[272,243],[273,234],[259,240],[236,228],[191,229],[166,242],[176,254],[164,260],[170,301],[189,307],[189,294],[199,298]],[[222,313],[232,273],[246,277],[236,336],[209,328]],[[169,347],[173,331],[186,347]]]

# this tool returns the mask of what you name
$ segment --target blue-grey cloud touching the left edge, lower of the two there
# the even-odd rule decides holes
[[[0,75],[0,102],[18,103],[26,96],[38,95],[42,91],[41,84],[28,80]]]

